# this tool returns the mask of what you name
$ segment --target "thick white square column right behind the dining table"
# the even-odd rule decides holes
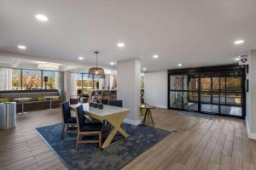
[[[131,109],[124,122],[133,125],[141,123],[140,73],[139,59],[127,59],[117,63],[117,98],[123,100],[123,107]]]

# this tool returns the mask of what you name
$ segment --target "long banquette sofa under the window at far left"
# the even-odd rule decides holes
[[[15,102],[17,98],[32,98],[24,103],[25,111],[49,109],[49,99],[44,96],[58,96],[52,99],[52,108],[61,106],[61,91],[59,90],[22,90],[22,91],[0,91],[0,99]],[[17,112],[21,111],[21,103],[17,102]]]

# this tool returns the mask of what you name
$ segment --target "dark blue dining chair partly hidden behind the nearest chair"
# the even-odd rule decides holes
[[[61,103],[62,109],[62,130],[61,138],[64,138],[64,133],[76,133],[77,120],[71,116],[70,106],[68,102]]]

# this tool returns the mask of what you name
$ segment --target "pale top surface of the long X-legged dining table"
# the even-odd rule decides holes
[[[113,115],[113,114],[122,113],[125,111],[131,111],[130,109],[116,107],[116,106],[112,106],[112,105],[104,105],[103,109],[98,109],[98,108],[90,107],[89,103],[85,103],[85,104],[79,103],[76,105],[70,105],[70,107],[75,109],[79,105],[83,105],[83,109],[85,112],[94,114],[96,116],[109,116],[109,115]]]

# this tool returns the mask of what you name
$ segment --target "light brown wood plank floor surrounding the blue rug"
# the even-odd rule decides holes
[[[155,127],[177,131],[131,161],[123,170],[255,169],[256,141],[247,139],[240,119],[214,120],[153,111]],[[18,126],[0,131],[0,169],[67,169],[35,127],[61,122],[61,110],[33,111],[18,116]]]

